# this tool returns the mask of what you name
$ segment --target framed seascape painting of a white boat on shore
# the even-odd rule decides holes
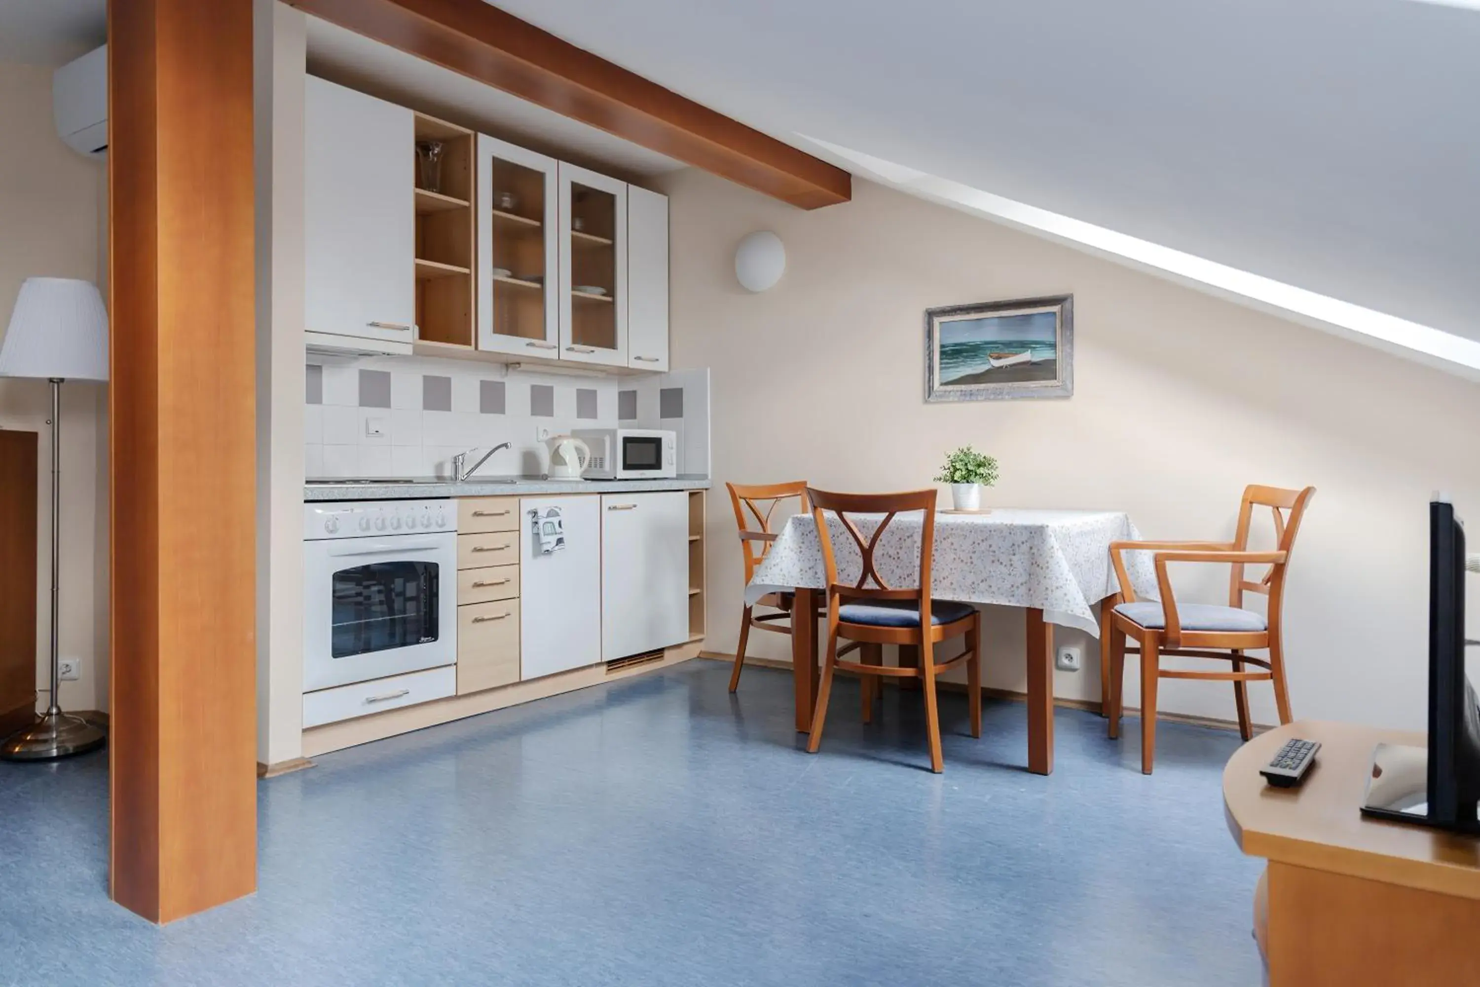
[[[925,309],[925,400],[1074,394],[1074,296]]]

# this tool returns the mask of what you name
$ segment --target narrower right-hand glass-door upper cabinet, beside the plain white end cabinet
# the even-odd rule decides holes
[[[628,183],[559,163],[559,358],[628,366]]]

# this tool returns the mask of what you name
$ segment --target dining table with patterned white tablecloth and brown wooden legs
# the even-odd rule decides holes
[[[863,568],[857,543],[842,521],[827,513],[829,542],[839,585],[857,585]],[[848,515],[867,540],[884,515]],[[919,585],[924,513],[901,513],[885,527],[875,548],[879,577],[891,587]],[[1054,769],[1054,635],[1052,626],[1101,635],[1101,616],[1119,602],[1120,586],[1110,564],[1111,542],[1141,534],[1122,511],[995,508],[983,512],[940,511],[931,558],[931,596],[968,604],[1020,607],[1027,624],[1027,769]],[[1150,552],[1126,552],[1126,574],[1138,598],[1159,599]],[[792,602],[792,681],[796,730],[813,725],[817,701],[817,624],[799,614],[826,607],[826,562],[811,513],[795,515],[777,533],[746,586],[746,605],[767,593],[795,593]],[[1101,604],[1097,616],[1095,604]],[[901,664],[918,664],[915,648],[900,648]]]

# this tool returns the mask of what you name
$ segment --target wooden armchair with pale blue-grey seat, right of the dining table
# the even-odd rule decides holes
[[[1239,527],[1233,542],[1114,542],[1110,558],[1120,582],[1123,602],[1114,607],[1107,621],[1104,647],[1110,653],[1110,735],[1120,735],[1122,679],[1125,656],[1141,656],[1141,771],[1151,774],[1156,755],[1156,687],[1160,679],[1212,679],[1233,682],[1234,706],[1239,710],[1239,734],[1249,740],[1249,682],[1274,682],[1274,704],[1280,724],[1291,722],[1289,684],[1285,678],[1285,642],[1282,638],[1285,608],[1285,574],[1289,571],[1295,534],[1314,487],[1280,490],[1251,485],[1239,506]],[[1274,518],[1271,552],[1249,552],[1249,522],[1255,508],[1268,508]],[[1153,550],[1156,585],[1160,602],[1135,598],[1135,587],[1125,573],[1125,552]],[[1228,576],[1228,605],[1178,604],[1172,593],[1166,567],[1171,562],[1220,562],[1231,567]],[[1245,579],[1248,565],[1268,565],[1258,580]],[[1268,596],[1265,611],[1246,610],[1245,595]],[[1126,648],[1135,638],[1138,648]],[[1268,651],[1270,657],[1254,658],[1249,651]],[[1163,656],[1214,658],[1231,663],[1228,672],[1196,672],[1163,669]],[[1245,666],[1255,666],[1257,672]]]

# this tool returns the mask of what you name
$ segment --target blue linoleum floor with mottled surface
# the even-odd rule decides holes
[[[817,756],[790,679],[690,661],[318,759],[259,786],[256,895],[155,928],[107,898],[107,769],[0,764],[0,986],[1259,983],[1259,861],[1236,849],[1224,731],[1163,724],[1156,774],[1060,710],[918,698]],[[903,698],[903,703],[901,703]],[[46,888],[46,894],[36,889]]]

